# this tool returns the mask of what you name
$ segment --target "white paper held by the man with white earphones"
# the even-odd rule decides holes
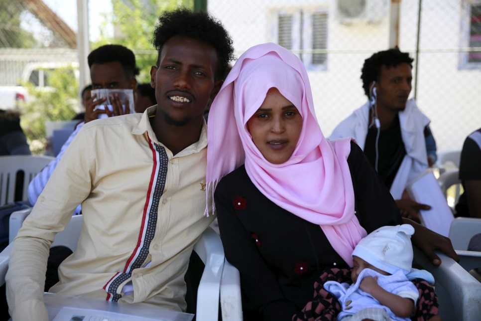
[[[448,237],[454,215],[433,172],[428,170],[422,173],[406,189],[413,200],[431,206],[430,210],[420,211],[426,227]]]

